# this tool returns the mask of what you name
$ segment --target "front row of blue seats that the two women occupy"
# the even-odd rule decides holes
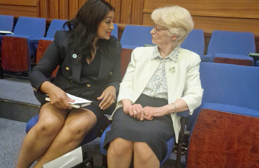
[[[187,155],[185,167],[189,168],[258,167],[258,73],[259,67],[201,63],[202,104],[193,115],[189,116],[189,111],[177,113],[182,118],[178,144],[175,137],[167,141],[168,153],[160,165],[172,152],[177,152],[176,168],[180,167],[181,155]],[[103,167],[107,167],[103,142],[110,123],[106,117],[102,121],[86,135],[81,145],[101,135],[100,152]],[[38,115],[28,122],[26,132],[37,122]],[[184,134],[186,124],[189,134]]]

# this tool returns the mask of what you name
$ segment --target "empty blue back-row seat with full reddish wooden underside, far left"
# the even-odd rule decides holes
[[[37,45],[34,42],[44,37],[45,31],[45,18],[20,16],[13,31],[15,35],[3,37],[3,68],[14,72],[30,70],[31,61],[36,58],[37,51]]]

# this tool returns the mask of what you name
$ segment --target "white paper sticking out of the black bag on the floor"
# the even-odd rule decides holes
[[[43,165],[43,168],[71,168],[83,161],[82,148],[79,147],[53,161]]]

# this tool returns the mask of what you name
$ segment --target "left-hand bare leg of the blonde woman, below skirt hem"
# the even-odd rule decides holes
[[[115,138],[110,142],[107,161],[108,168],[129,168],[133,155],[133,142]]]

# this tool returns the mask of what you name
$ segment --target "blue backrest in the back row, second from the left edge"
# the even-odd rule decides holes
[[[46,19],[20,16],[14,33],[17,35],[27,35],[32,38],[40,39],[44,37],[46,31]]]

